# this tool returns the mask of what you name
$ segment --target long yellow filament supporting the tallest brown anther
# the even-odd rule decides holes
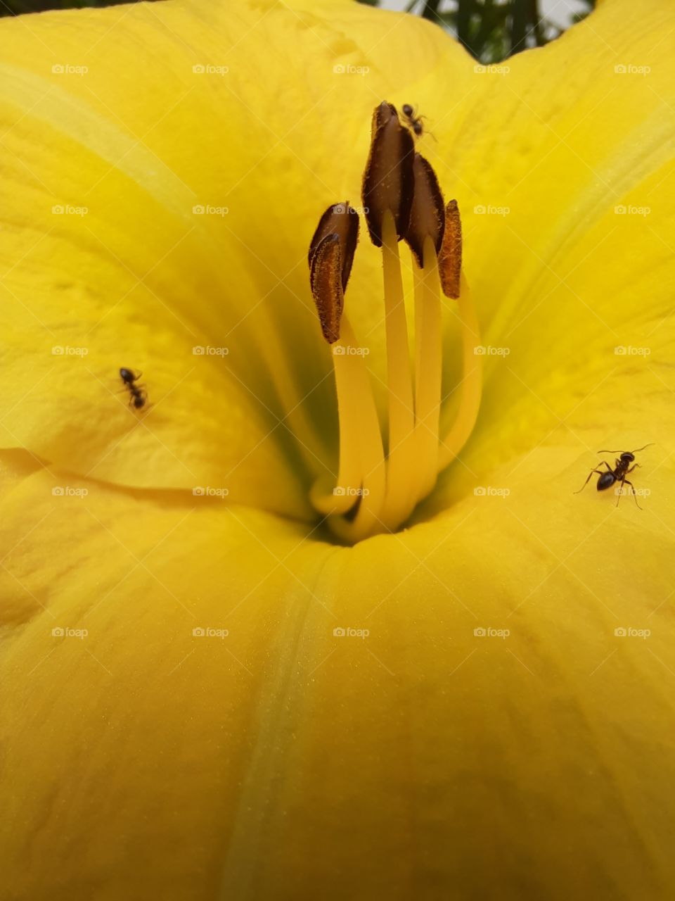
[[[383,217],[383,278],[389,383],[389,455],[382,520],[389,527],[396,528],[408,518],[415,503],[410,496],[410,473],[415,468],[412,442],[415,412],[399,244],[389,211]]]

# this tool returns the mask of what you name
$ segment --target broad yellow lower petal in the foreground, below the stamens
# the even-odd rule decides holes
[[[302,897],[330,873],[328,898],[569,896],[581,872],[593,896],[663,896],[672,478],[650,473],[640,514],[521,469],[507,497],[335,549],[206,499],[26,476],[0,518],[23,623],[5,885]]]

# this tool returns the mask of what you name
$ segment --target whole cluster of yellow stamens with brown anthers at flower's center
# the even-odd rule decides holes
[[[333,356],[338,395],[337,480],[320,478],[311,503],[339,539],[358,542],[394,532],[459,454],[481,402],[478,326],[462,274],[462,227],[454,200],[445,205],[428,160],[396,108],[376,107],[363,183],[371,241],[383,254],[388,414],[377,414],[363,350],[344,311],[359,220],[349,204],[329,206],[311,241],[311,293]],[[414,272],[414,383],[399,241],[410,247]],[[443,376],[442,293],[455,299],[463,335],[460,403],[449,432],[439,431]]]

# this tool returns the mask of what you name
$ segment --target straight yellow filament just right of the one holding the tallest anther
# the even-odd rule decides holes
[[[415,268],[415,467],[414,502],[436,485],[443,350],[440,283],[433,241],[424,241],[423,267]]]

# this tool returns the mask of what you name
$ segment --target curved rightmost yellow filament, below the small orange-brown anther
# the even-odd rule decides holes
[[[464,447],[478,418],[482,394],[482,358],[473,352],[480,343],[478,319],[473,309],[471,291],[464,273],[457,301],[462,326],[462,382],[459,409],[452,428],[438,450],[438,470],[445,469]]]

